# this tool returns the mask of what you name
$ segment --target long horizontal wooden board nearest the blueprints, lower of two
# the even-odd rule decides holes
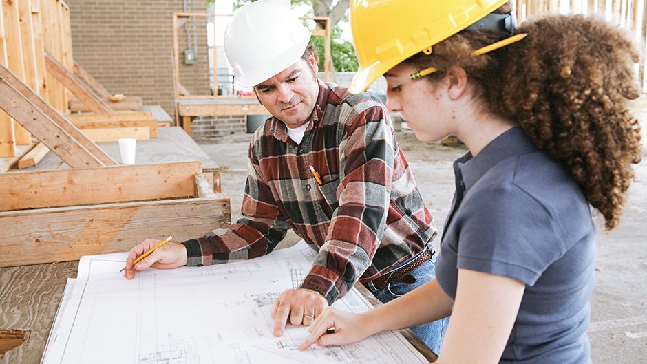
[[[4,211],[0,226],[11,228],[0,232],[0,266],[116,253],[162,235],[182,242],[230,219],[229,199],[210,198]]]

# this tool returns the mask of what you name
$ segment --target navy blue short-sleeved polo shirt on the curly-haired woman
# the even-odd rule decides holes
[[[591,363],[595,225],[569,171],[515,127],[456,160],[454,173],[436,265],[441,288],[456,297],[459,268],[522,281],[500,363]]]

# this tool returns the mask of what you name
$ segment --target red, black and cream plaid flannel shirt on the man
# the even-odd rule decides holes
[[[189,266],[270,253],[288,228],[319,253],[301,288],[329,303],[419,253],[436,237],[433,217],[394,138],[384,105],[319,82],[301,144],[268,119],[248,149],[244,218],[224,235],[183,242]],[[319,173],[319,185],[310,166]]]

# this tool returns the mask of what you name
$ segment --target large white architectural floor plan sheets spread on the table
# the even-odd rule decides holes
[[[118,273],[125,257],[81,259],[43,363],[427,363],[396,332],[306,352],[296,350],[308,335],[302,326],[275,337],[272,304],[299,286],[314,258],[304,242],[249,261],[146,270],[132,281]],[[357,290],[334,306],[372,308]]]

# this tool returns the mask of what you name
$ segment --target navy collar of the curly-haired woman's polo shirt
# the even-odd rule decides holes
[[[470,158],[471,154],[468,153],[469,157],[465,158],[466,161],[460,166],[463,182],[465,182],[465,190],[469,190],[471,186],[474,186],[498,162],[535,150],[537,150],[537,147],[521,127],[513,127],[505,131],[505,133],[489,142],[476,157]]]

